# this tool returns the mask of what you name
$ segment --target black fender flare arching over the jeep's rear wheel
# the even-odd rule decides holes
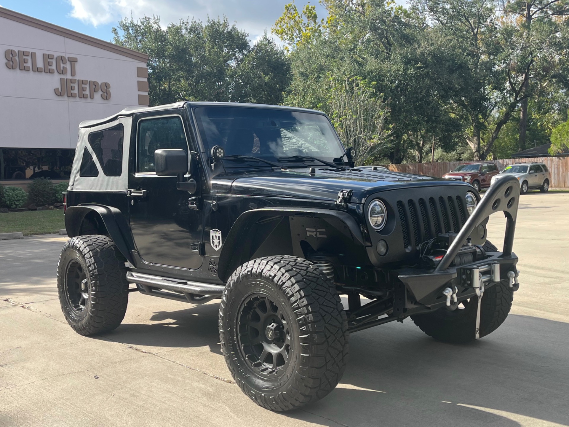
[[[112,206],[100,204],[83,204],[70,206],[65,210],[65,229],[69,237],[80,235],[81,223],[90,212],[96,212],[102,219],[118,250],[133,265],[135,261],[131,251],[134,249],[133,236],[129,224],[120,210]]]

